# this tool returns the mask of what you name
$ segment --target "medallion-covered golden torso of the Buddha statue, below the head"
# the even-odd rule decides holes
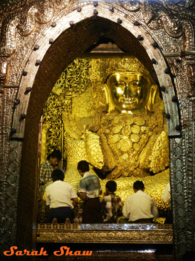
[[[150,175],[150,171],[159,173],[168,166],[168,137],[162,128],[162,121],[159,108],[139,112],[136,116],[111,112],[108,117],[102,113],[97,133],[105,160],[103,170],[107,172],[115,168],[115,172],[107,176],[108,179],[122,177],[124,172],[128,172],[128,176],[144,177]],[[123,162],[124,153],[128,155],[126,165]]]

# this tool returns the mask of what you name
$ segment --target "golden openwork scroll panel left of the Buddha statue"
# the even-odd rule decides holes
[[[54,148],[60,150],[66,159],[67,134],[62,122],[62,112],[72,112],[72,100],[86,90],[89,83],[88,67],[88,59],[74,60],[62,72],[43,108],[41,163]],[[71,120],[74,122],[74,119]]]

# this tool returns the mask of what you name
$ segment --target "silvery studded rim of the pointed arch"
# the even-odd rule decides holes
[[[104,7],[104,3],[98,4],[98,17],[109,19],[111,21],[116,21],[117,23],[118,17],[123,16],[123,14],[117,11],[111,13],[109,9],[107,12],[105,12]],[[28,59],[29,62],[24,68],[25,72],[31,73],[28,73],[27,76],[23,75],[20,82],[20,87],[17,94],[17,99],[20,100],[20,104],[16,106],[13,115],[12,128],[16,130],[16,132],[12,135],[13,138],[24,138],[25,120],[21,119],[21,114],[27,114],[28,103],[31,95],[30,93],[27,94],[26,88],[30,87],[33,89],[34,80],[39,70],[39,66],[41,65],[41,61],[42,59],[44,59],[45,53],[51,47],[49,40],[52,39],[53,41],[57,41],[58,37],[63,32],[71,28],[70,21],[74,20],[74,24],[77,25],[77,23],[81,21],[94,17],[93,10],[94,6],[92,4],[83,6],[82,11],[79,13],[77,10],[73,10],[67,16],[62,16],[59,20],[56,20],[56,26],[50,26],[49,28],[47,28],[47,30],[44,32],[44,35],[39,38],[39,42],[37,43],[39,45],[39,49],[36,52],[31,52]],[[144,36],[142,46],[149,55],[149,58],[151,60],[156,60],[154,70],[156,72],[159,85],[161,87],[165,87],[165,90],[162,91],[162,97],[164,101],[165,111],[167,114],[170,114],[170,118],[167,119],[168,136],[180,136],[180,128],[176,127],[180,125],[178,107],[177,103],[172,101],[172,98],[176,97],[176,93],[170,74],[165,73],[167,65],[162,52],[160,52],[158,48],[153,47],[152,44],[154,42],[154,39],[151,37],[151,35],[142,26],[135,26],[131,19],[123,17],[120,26],[131,32],[131,34],[135,38],[137,38],[139,35]],[[40,65],[37,63],[38,60],[40,61]]]

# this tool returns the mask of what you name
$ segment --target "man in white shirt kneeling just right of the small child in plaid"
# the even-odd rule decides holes
[[[145,187],[142,181],[133,184],[135,194],[129,196],[122,209],[126,218],[120,223],[152,223],[153,218],[158,217],[158,210],[154,200],[144,192]]]

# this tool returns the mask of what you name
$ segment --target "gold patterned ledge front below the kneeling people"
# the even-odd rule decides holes
[[[155,243],[172,244],[171,225],[156,229],[80,229],[78,224],[38,224],[38,243]]]

